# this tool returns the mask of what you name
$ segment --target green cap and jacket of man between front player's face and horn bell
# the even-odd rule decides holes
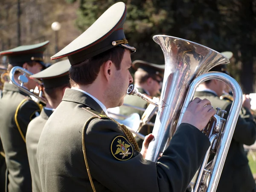
[[[149,75],[157,75],[160,78],[163,78],[165,65],[157,65],[157,64],[148,63],[146,61],[135,60],[132,63],[132,67],[134,68],[134,70],[138,70],[138,69],[143,70],[143,71],[146,71]],[[143,88],[141,87],[137,87],[137,89],[139,90],[140,93],[143,93],[145,95],[149,94],[146,90],[143,90]],[[124,98],[124,104],[128,104],[128,105],[143,108],[143,109],[146,109],[148,107],[148,102],[146,102],[145,100],[141,99],[138,96],[133,96],[133,95],[126,95]],[[120,109],[119,113],[125,116],[130,116],[132,113],[138,113],[141,118],[144,113],[144,111],[140,111],[138,109],[131,108],[125,105],[120,106],[119,109]],[[155,118],[156,118],[156,115],[154,115],[150,121],[154,122]],[[152,133],[152,131],[153,131],[153,126],[144,125],[139,132],[146,136]],[[139,147],[141,148],[143,144],[143,140],[136,137],[136,141]]]

